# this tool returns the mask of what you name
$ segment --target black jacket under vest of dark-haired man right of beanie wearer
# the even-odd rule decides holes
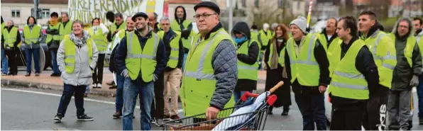
[[[344,55],[351,47],[352,43],[358,40],[358,37],[353,37],[350,40],[350,43],[346,45],[342,42],[341,46],[341,59],[344,58]],[[368,50],[367,46],[361,47],[361,50],[358,52],[356,57],[356,69],[358,72],[364,75],[364,78],[368,84],[368,90],[370,92],[370,96],[378,94],[381,90],[386,90],[388,88],[381,86],[379,84],[379,74],[378,74],[378,67],[375,64],[375,60],[373,59],[373,55]],[[350,104],[350,103],[358,103],[358,102],[366,102],[366,100],[356,100],[351,98],[341,98],[338,96],[331,96],[331,103],[335,104]]]

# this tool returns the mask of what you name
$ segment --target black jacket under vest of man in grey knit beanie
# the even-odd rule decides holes
[[[293,43],[293,44],[297,44],[300,45],[300,41]],[[302,52],[304,53],[304,52]],[[328,86],[329,82],[330,82],[330,78],[329,78],[329,60],[326,56],[326,51],[324,50],[324,47],[322,45],[322,43],[317,39],[316,45],[314,47],[314,58],[316,59],[317,63],[319,64],[319,69],[320,69],[320,76],[319,76],[319,86]],[[290,59],[289,54],[287,52],[287,50],[285,50],[285,59]],[[290,60],[285,60],[285,67],[287,68],[287,76],[289,79],[292,78],[291,76],[291,64],[290,64]],[[297,80],[295,80],[297,81]],[[296,89],[294,86],[292,86],[292,91],[294,91],[295,93],[297,92],[301,92],[304,91],[304,89],[309,89],[309,90],[313,90],[313,91],[319,91],[319,86],[312,86],[312,87],[307,87],[307,86],[302,86],[304,88],[302,89]]]

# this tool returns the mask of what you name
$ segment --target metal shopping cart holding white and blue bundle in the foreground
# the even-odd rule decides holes
[[[202,113],[163,122],[163,130],[263,130],[268,108],[277,99],[270,94],[282,85],[283,81],[280,81],[270,91],[261,94],[244,93],[234,107],[221,110],[214,120],[206,120],[206,113]]]

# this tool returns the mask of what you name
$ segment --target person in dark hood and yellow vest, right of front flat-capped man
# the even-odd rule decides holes
[[[244,92],[252,92],[257,88],[260,47],[256,40],[251,39],[251,32],[245,22],[236,23],[231,34],[238,46],[238,82],[234,91],[236,103]]]

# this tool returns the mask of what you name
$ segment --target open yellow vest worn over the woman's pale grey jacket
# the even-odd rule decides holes
[[[75,69],[75,57],[77,54],[77,49],[75,43],[70,40],[69,35],[63,37],[65,40],[65,69],[67,74],[72,74]],[[91,64],[92,61],[92,39],[87,40],[88,47],[88,62]]]

